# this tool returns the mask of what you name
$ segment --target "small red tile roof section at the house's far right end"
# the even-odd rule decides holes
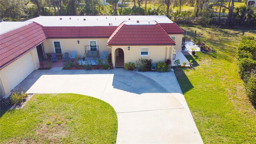
[[[175,23],[162,23],[160,24],[167,34],[184,34],[184,31]]]

